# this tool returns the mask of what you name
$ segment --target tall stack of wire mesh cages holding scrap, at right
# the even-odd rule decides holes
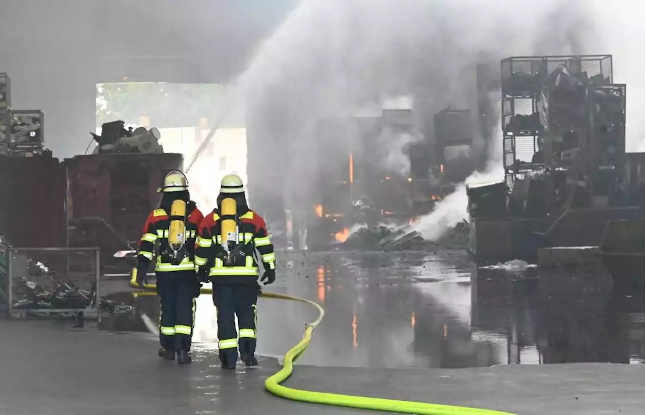
[[[594,156],[596,89],[612,86],[612,56],[515,56],[501,61],[503,165],[508,186],[527,173],[548,167],[572,168],[563,145],[567,134],[576,135],[572,147],[586,170]],[[621,92],[621,87],[613,88]],[[623,89],[625,94],[625,89]],[[549,132],[546,143],[546,132]],[[593,134],[590,134],[593,133]],[[565,140],[564,140],[565,137]],[[554,144],[554,148],[552,148]],[[623,151],[623,147],[621,149]],[[570,152],[571,153],[571,152]],[[570,164],[568,166],[568,164]],[[579,167],[578,167],[579,168]]]

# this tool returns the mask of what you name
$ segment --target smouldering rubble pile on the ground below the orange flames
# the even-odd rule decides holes
[[[349,235],[341,246],[343,250],[435,251],[466,250],[469,246],[469,224],[459,222],[440,239],[429,241],[412,226],[384,226],[360,228]]]

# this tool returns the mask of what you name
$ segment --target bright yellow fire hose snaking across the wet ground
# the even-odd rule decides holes
[[[156,284],[146,284],[141,287],[137,284],[135,273],[132,273],[130,285],[134,288],[143,288],[144,290],[156,290]],[[203,294],[213,294],[211,288],[202,288]],[[334,407],[348,407],[357,409],[380,410],[384,412],[399,412],[402,414],[417,415],[513,415],[508,412],[498,412],[488,409],[476,409],[466,407],[453,407],[450,405],[437,405],[435,403],[397,401],[395,399],[369,398],[367,396],[351,396],[342,394],[331,394],[326,392],[315,392],[313,390],[302,390],[288,388],[280,385],[282,381],[289,378],[294,370],[293,362],[300,357],[309,346],[312,340],[312,333],[318,324],[322,321],[324,310],[321,306],[313,301],[304,298],[292,297],[291,295],[278,293],[261,293],[260,297],[273,298],[288,301],[299,301],[300,303],[309,304],[318,310],[318,318],[307,323],[303,339],[287,351],[283,359],[283,366],[275,374],[269,376],[265,381],[265,388],[273,395],[291,401],[301,401],[309,403],[320,403],[322,405],[331,405]]]

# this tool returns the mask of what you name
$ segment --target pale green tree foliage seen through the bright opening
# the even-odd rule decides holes
[[[103,83],[97,85],[96,125],[139,125],[140,116],[148,116],[151,127],[189,127],[200,118],[213,122],[225,99],[225,88],[216,84]]]

